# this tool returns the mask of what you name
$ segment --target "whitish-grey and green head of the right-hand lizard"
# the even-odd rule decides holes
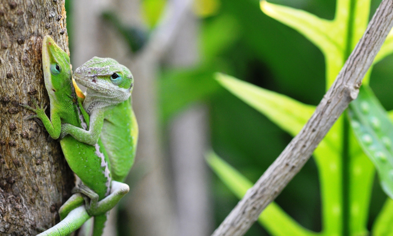
[[[74,78],[107,98],[129,98],[134,84],[130,70],[112,58],[93,57],[75,70]]]

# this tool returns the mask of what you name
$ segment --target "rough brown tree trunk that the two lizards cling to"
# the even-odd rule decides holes
[[[58,142],[18,103],[49,104],[44,35],[68,51],[64,0],[0,0],[0,235],[35,235],[59,220],[73,173]],[[49,109],[48,109],[49,110]]]

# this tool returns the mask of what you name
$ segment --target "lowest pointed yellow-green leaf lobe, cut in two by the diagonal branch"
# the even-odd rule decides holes
[[[222,182],[241,199],[252,183],[213,151],[206,155],[206,161]],[[316,236],[318,233],[305,229],[292,219],[277,203],[270,203],[258,218],[273,236]]]

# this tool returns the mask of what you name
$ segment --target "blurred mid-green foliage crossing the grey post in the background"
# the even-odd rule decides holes
[[[231,70],[220,55],[236,41],[237,31],[235,18],[229,15],[215,18],[202,27],[200,63],[193,68],[175,68],[163,72],[158,81],[158,93],[164,122],[187,104],[207,99],[217,91],[219,86],[213,73]]]

